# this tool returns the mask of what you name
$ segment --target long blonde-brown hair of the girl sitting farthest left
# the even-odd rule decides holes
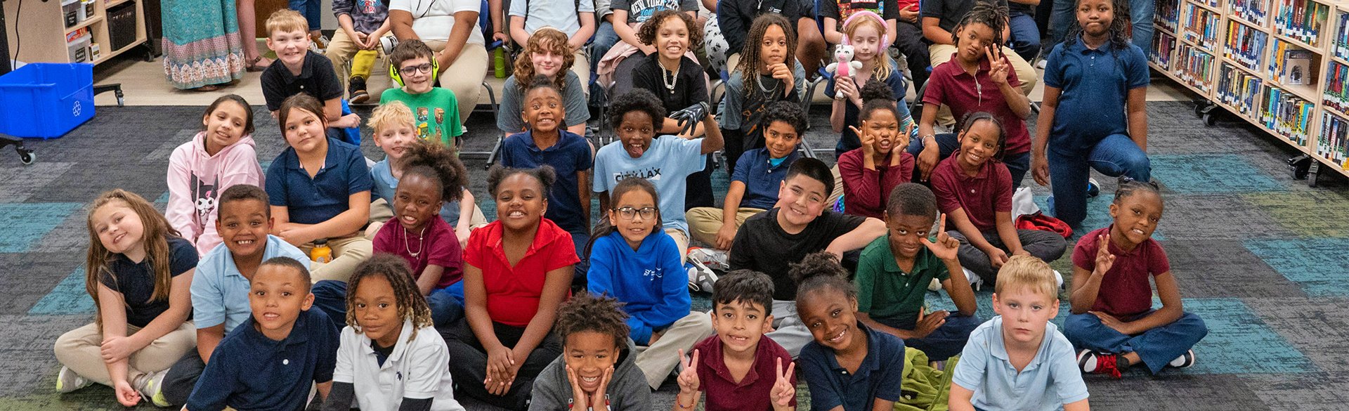
[[[96,198],[89,205],[89,216],[85,217],[85,224],[89,226],[89,252],[85,255],[85,292],[93,298],[93,306],[101,310],[98,305],[98,284],[100,279],[107,275],[112,279],[111,283],[117,283],[117,272],[112,271],[108,264],[116,253],[108,251],[98,240],[98,229],[93,222],[93,213],[109,203],[125,205],[131,212],[136,213],[140,218],[142,239],[140,241],[146,248],[146,260],[150,263],[151,274],[154,275],[155,288],[150,294],[150,301],[167,301],[169,288],[173,284],[173,274],[169,272],[169,236],[178,237],[178,230],[169,225],[169,220],[163,214],[155,210],[155,206],[146,201],[144,197],[136,195],[121,189],[115,189],[105,191],[98,198]],[[121,290],[112,291],[121,292]],[[98,323],[98,329],[103,329],[103,313],[94,315],[94,322]]]

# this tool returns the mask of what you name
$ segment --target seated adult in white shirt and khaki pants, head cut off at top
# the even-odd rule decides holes
[[[478,30],[479,0],[389,0],[389,22],[399,42],[421,39],[436,51],[440,86],[459,98],[467,123],[487,75],[487,47]],[[452,75],[447,75],[452,73]]]

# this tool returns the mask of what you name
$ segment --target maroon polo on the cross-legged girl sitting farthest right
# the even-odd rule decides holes
[[[1101,247],[1097,241],[1113,226],[1112,224],[1082,236],[1078,245],[1072,248],[1072,265],[1086,271],[1095,270],[1095,255]],[[1124,321],[1147,313],[1152,309],[1152,286],[1148,284],[1148,276],[1171,271],[1167,252],[1161,249],[1161,244],[1152,239],[1128,252],[1116,247],[1114,243],[1106,247],[1114,255],[1114,265],[1110,265],[1110,271],[1106,271],[1105,276],[1101,278],[1101,291],[1097,292],[1097,301],[1091,305],[1091,310]]]

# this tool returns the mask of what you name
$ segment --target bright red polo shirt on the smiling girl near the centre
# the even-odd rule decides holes
[[[544,294],[544,278],[549,271],[580,263],[572,234],[541,218],[534,243],[525,257],[511,267],[502,247],[502,222],[492,221],[468,236],[464,263],[483,270],[487,288],[487,315],[492,322],[514,327],[529,325],[538,313],[538,298]]]

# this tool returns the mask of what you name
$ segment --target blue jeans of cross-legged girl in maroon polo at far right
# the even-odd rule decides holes
[[[1120,321],[1135,321],[1148,313],[1133,318],[1120,318]],[[1193,348],[1203,336],[1209,334],[1209,327],[1203,319],[1193,313],[1184,313],[1172,323],[1159,326],[1141,334],[1125,336],[1101,323],[1101,318],[1091,313],[1072,314],[1063,321],[1063,334],[1077,349],[1090,349],[1106,353],[1139,353],[1148,371],[1157,373],[1167,362],[1175,360]]]

